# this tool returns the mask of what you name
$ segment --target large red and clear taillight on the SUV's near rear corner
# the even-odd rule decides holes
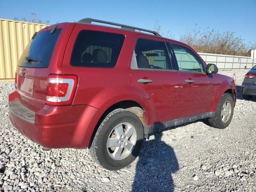
[[[46,104],[70,105],[76,92],[77,77],[72,75],[50,75]]]

